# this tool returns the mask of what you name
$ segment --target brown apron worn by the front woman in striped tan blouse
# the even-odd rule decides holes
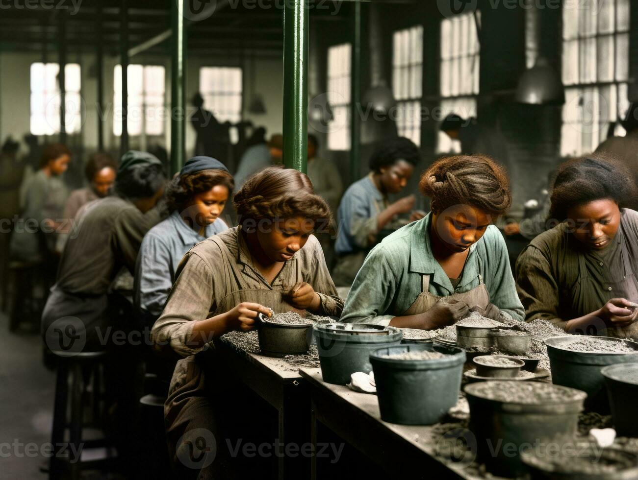
[[[221,240],[216,238],[209,240],[219,245],[222,251],[226,253],[226,258],[232,258],[228,248]],[[228,312],[228,310],[234,309],[242,302],[259,303],[264,307],[270,307],[275,313],[296,311],[304,314],[305,310],[293,309],[292,305],[285,300],[285,294],[290,291],[295,283],[302,280],[297,259],[288,260],[288,262],[290,261],[295,263],[295,273],[292,279],[281,279],[281,283],[279,283],[276,277],[272,283],[278,284],[278,286],[273,287],[271,285],[270,289],[264,287],[263,289],[252,288],[231,291],[218,302],[214,311],[209,312],[209,317]],[[248,266],[242,268],[236,262],[232,262],[231,266],[232,273],[237,278],[245,275],[243,268],[249,268]],[[260,275],[252,269],[251,273]],[[169,451],[174,455],[173,462],[177,469],[182,469],[184,465],[184,461],[179,457],[179,453],[176,452],[178,452],[180,447],[184,448],[184,439],[188,437],[188,435],[185,435],[186,432],[204,428],[209,432],[213,432],[214,437],[223,438],[218,435],[219,414],[216,414],[214,402],[215,398],[223,396],[223,392],[216,389],[212,379],[209,379],[211,375],[207,375],[207,368],[209,368],[210,363],[206,357],[211,354],[214,354],[214,352],[202,351],[179,360],[170,382],[168,398],[164,404],[164,415]],[[219,367],[223,368],[223,365]],[[217,446],[218,457],[211,465],[202,467],[198,478],[227,478],[230,475],[228,459],[223,456],[225,455],[223,449],[225,449],[226,444],[220,440],[217,442]],[[186,469],[186,472],[188,472],[188,469]],[[192,467],[188,473],[193,473]],[[197,474],[197,472],[194,473]]]

